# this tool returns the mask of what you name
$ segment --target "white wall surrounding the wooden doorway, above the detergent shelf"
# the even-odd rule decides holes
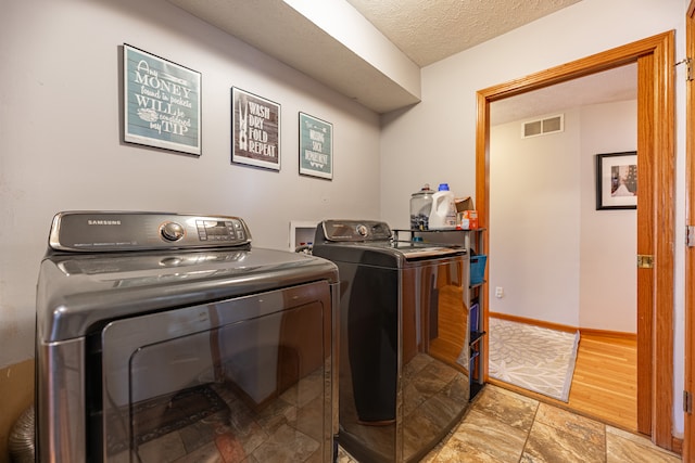
[[[686,0],[583,0],[502,37],[422,69],[422,103],[382,118],[381,211],[408,224],[408,198],[425,182],[447,181],[457,195],[475,193],[476,92],[675,29],[675,61],[684,57]],[[675,243],[683,243],[685,85],[677,67]],[[399,175],[393,175],[393,169]],[[491,256],[491,265],[494,256]],[[683,429],[683,249],[675,249],[674,404]]]

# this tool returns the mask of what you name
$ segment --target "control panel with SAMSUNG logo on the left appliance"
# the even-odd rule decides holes
[[[239,217],[168,213],[66,211],[53,218],[49,246],[68,252],[114,252],[249,246]]]

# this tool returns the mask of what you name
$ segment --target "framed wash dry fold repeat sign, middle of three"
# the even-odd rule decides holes
[[[280,105],[231,88],[231,162],[280,170]]]

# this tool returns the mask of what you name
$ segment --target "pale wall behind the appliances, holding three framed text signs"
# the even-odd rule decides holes
[[[164,0],[5,3],[0,366],[34,357],[35,285],[60,210],[238,215],[254,246],[279,249],[290,220],[379,218],[380,127],[371,111]],[[202,73],[200,158],[121,141],[124,42]],[[280,103],[280,172],[230,165],[232,86]],[[332,181],[299,176],[300,111],[333,124]]]

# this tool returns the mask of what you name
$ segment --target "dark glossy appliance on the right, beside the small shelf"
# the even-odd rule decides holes
[[[466,249],[326,220],[313,255],[341,280],[340,445],[363,463],[419,461],[469,402]]]

